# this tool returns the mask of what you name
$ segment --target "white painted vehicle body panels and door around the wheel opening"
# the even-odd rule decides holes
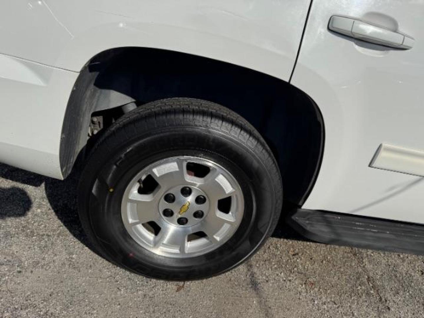
[[[1,162],[64,178],[59,158],[62,127],[86,63],[117,47],[172,50],[271,75],[315,101],[324,119],[325,144],[305,209],[424,223],[424,202],[419,199],[424,191],[420,172],[424,4],[414,0],[2,4]],[[328,30],[333,15],[382,25],[411,36],[415,43],[410,50],[400,50],[353,40]],[[369,167],[381,144],[406,149],[394,162],[380,158],[379,167],[398,172]],[[411,161],[416,164],[413,170],[408,168]]]

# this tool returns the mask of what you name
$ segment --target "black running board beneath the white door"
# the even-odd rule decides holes
[[[296,209],[287,223],[310,240],[424,255],[424,226],[357,215]]]

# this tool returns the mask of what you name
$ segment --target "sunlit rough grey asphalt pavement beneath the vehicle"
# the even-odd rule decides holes
[[[214,278],[129,273],[87,247],[76,179],[0,165],[0,317],[424,317],[424,257],[313,243],[284,224]]]

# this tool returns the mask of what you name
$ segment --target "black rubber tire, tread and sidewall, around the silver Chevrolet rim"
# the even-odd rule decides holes
[[[142,248],[126,231],[120,212],[123,192],[138,171],[180,155],[225,167],[245,198],[243,219],[232,238],[207,254],[184,259]],[[103,134],[81,175],[78,207],[93,248],[109,261],[157,279],[202,279],[240,265],[272,234],[282,207],[282,181],[270,149],[242,117],[204,100],[171,98],[134,109]]]

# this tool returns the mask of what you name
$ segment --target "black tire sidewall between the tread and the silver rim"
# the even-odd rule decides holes
[[[173,127],[146,131],[108,146],[115,149],[113,154],[102,156],[100,146],[85,169],[85,193],[89,195],[83,196],[82,209],[89,231],[108,259],[145,276],[198,279],[240,264],[268,236],[276,218],[275,181],[254,151],[240,140],[213,129]],[[198,257],[177,259],[154,254],[130,237],[123,225],[121,202],[129,182],[144,167],[183,155],[225,167],[240,184],[245,210],[240,226],[225,244]]]

